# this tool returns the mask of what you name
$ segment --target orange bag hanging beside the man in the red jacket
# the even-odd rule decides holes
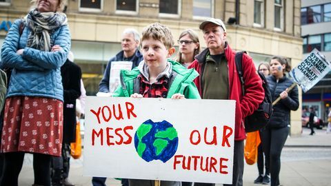
[[[247,133],[244,156],[248,165],[253,165],[257,162],[257,147],[259,147],[260,143],[261,138],[259,131]]]

